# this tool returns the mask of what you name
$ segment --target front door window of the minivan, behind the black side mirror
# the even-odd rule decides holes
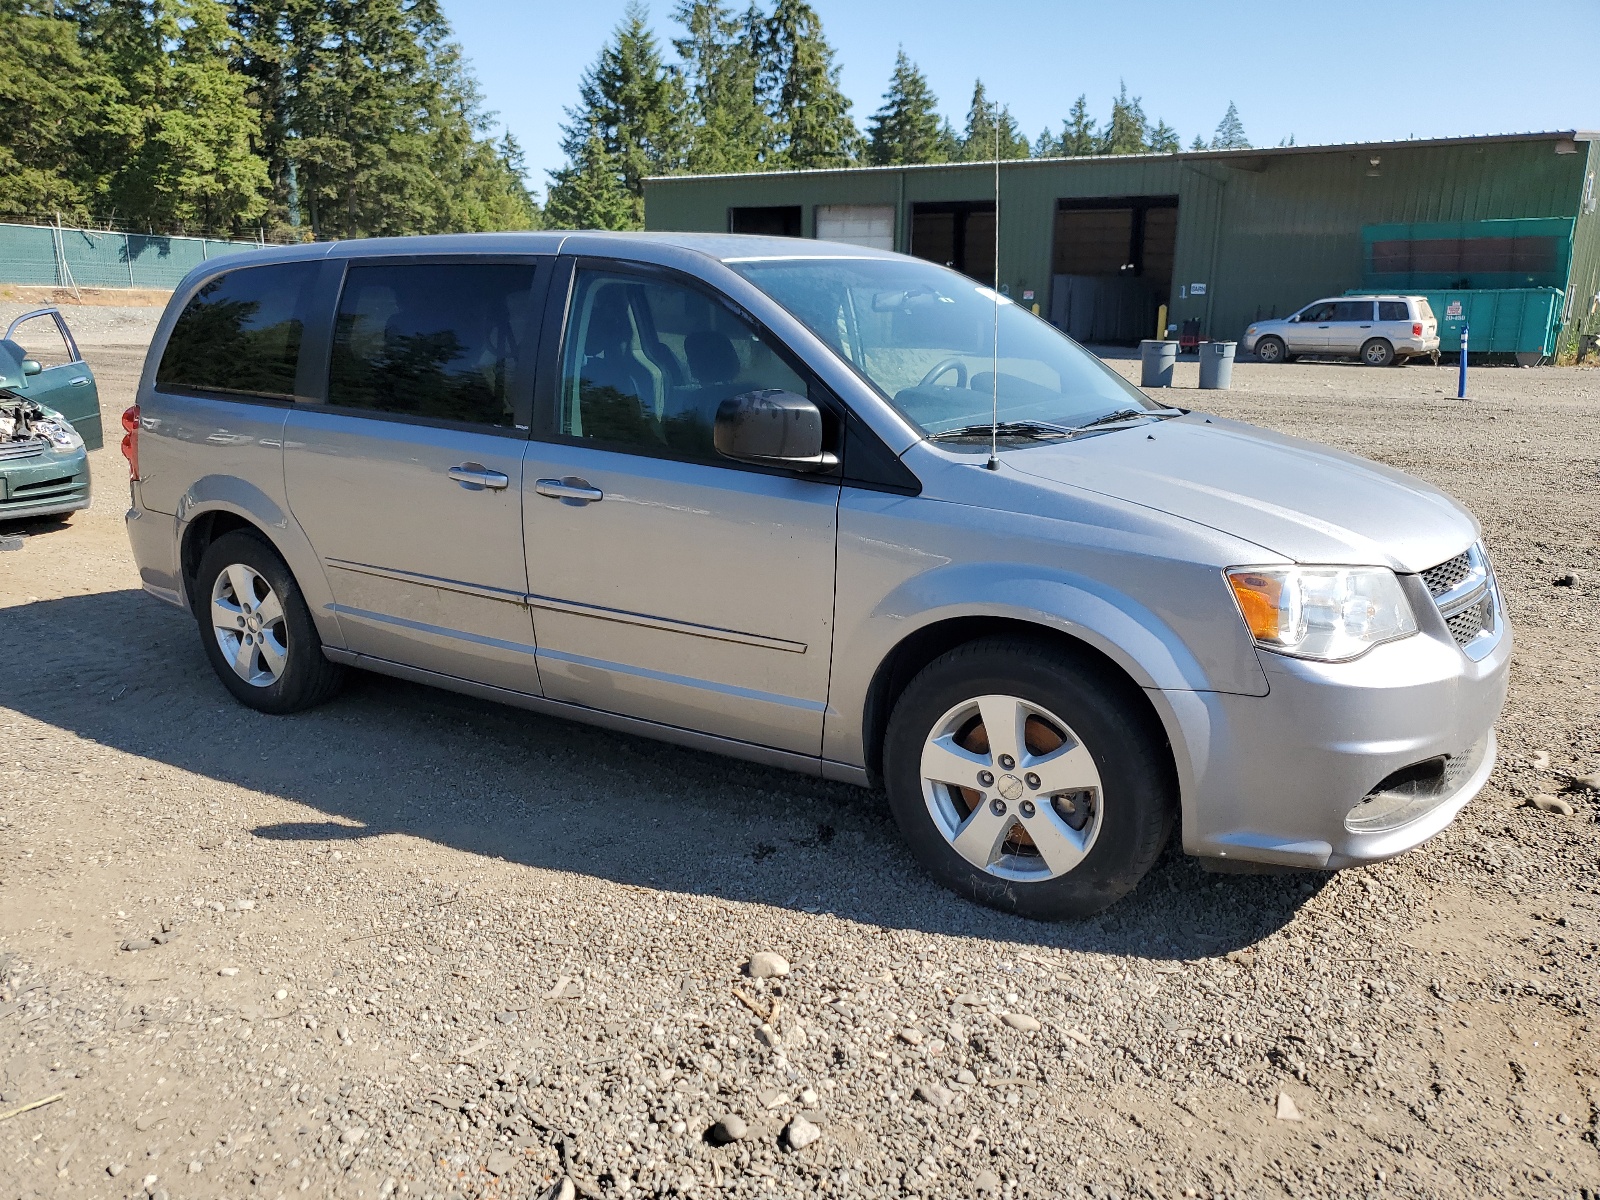
[[[646,453],[726,462],[723,400],[806,381],[726,306],[694,288],[579,270],[562,362],[560,432]]]

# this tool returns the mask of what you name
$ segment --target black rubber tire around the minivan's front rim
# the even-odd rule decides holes
[[[968,862],[923,794],[923,744],[936,723],[963,701],[990,694],[1059,717],[1099,773],[1098,835],[1075,867],[1053,878],[1018,882]],[[1171,752],[1138,690],[1086,654],[1021,638],[970,642],[923,667],[890,717],[883,782],[901,834],[930,875],[963,898],[1035,920],[1086,917],[1133,891],[1165,848],[1178,813]]]

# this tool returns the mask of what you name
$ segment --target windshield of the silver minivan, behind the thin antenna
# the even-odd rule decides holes
[[[998,419],[1077,427],[1155,411],[1133,384],[1038,317],[966,275],[920,259],[730,262],[805,322],[925,434]],[[1002,430],[1002,437],[1008,437]]]

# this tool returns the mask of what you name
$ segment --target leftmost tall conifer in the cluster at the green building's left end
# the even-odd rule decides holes
[[[645,176],[666,174],[683,162],[688,98],[683,80],[661,59],[642,3],[629,3],[611,38],[584,72],[578,106],[566,110],[562,150],[568,165],[600,162],[587,150],[589,139],[600,138],[603,162],[632,197],[627,227],[638,229],[645,224]]]

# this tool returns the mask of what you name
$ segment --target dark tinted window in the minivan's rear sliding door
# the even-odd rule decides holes
[[[373,413],[528,424],[533,264],[355,264],[333,326],[328,403]]]

